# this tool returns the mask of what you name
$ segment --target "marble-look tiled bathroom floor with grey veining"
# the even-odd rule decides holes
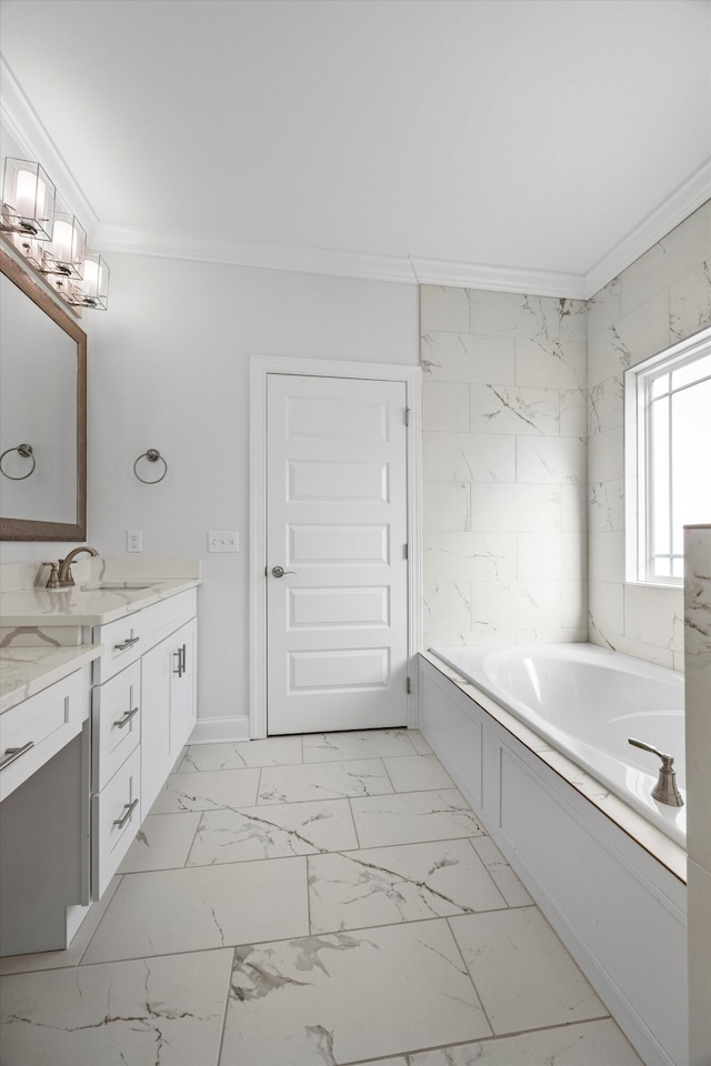
[[[189,748],[2,1066],[640,1066],[418,733]]]

